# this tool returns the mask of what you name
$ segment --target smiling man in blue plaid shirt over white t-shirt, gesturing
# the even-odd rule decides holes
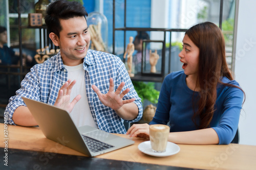
[[[125,133],[123,119],[140,120],[142,104],[120,58],[88,50],[85,16],[87,12],[77,2],[61,0],[49,5],[45,21],[60,51],[31,68],[16,96],[10,98],[6,107],[10,124],[37,125],[21,96],[66,109],[78,127]]]

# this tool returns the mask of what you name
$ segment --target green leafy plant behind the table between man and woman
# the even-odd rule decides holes
[[[155,89],[155,83],[133,81],[133,86],[137,91],[139,97],[141,98],[142,103],[144,99],[150,101],[153,104],[156,104],[158,102],[160,91]]]

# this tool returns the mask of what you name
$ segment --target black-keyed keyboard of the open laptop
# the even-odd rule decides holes
[[[91,137],[86,136],[86,135],[82,135],[82,137],[83,137],[83,140],[88,145],[90,151],[92,151],[92,152],[99,152],[99,151],[103,151],[103,150],[114,147],[111,144],[101,142],[97,139],[91,138]]]

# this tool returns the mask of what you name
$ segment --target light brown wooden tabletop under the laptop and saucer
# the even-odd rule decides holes
[[[13,153],[25,150],[30,152],[33,151],[48,154],[51,153],[50,156],[52,157],[54,157],[57,153],[80,156],[79,159],[89,159],[86,155],[80,152],[77,152],[63,145],[60,145],[59,143],[56,143],[50,139],[47,139],[44,134],[42,134],[39,127],[21,127],[12,125],[7,126],[8,135],[5,136],[6,134],[4,133],[4,124],[0,124],[0,129],[2,129],[2,132],[0,133],[0,147],[6,148],[6,143],[4,142],[8,141],[7,148]],[[122,136],[124,138],[130,138],[128,135],[116,135]],[[132,167],[134,167],[134,163],[154,164],[152,165],[152,167],[154,167],[155,165],[164,165],[164,167],[172,166],[196,169],[256,169],[256,146],[252,145],[179,144],[180,152],[178,154],[167,157],[153,157],[143,154],[138,150],[138,144],[145,141],[145,139],[137,137],[131,139],[135,141],[135,144],[116,151],[96,156],[95,158],[98,159],[94,158],[94,160],[108,159],[122,161],[122,169],[133,169]],[[6,153],[3,151],[3,149],[1,149],[0,151],[0,157],[2,159],[4,159],[3,157]],[[37,159],[40,159],[40,154],[37,154],[37,157],[39,157]],[[41,156],[41,159],[43,158],[44,157]],[[0,165],[3,164],[2,159]],[[123,162],[125,162],[125,164]]]

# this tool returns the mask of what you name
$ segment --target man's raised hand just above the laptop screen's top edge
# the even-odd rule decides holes
[[[69,113],[73,110],[75,104],[81,99],[81,95],[77,95],[73,101],[70,103],[70,93],[72,87],[75,85],[76,81],[71,82],[69,79],[60,89],[58,97],[55,101],[54,106],[61,109],[67,110]]]

